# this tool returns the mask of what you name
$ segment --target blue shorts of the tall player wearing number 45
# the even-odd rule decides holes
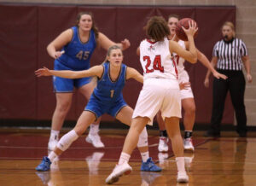
[[[55,70],[73,70],[66,67],[61,62],[55,60]],[[85,69],[84,69],[85,70]],[[91,78],[60,78],[53,76],[55,92],[73,92],[73,87],[79,89],[84,84],[89,84]]]

